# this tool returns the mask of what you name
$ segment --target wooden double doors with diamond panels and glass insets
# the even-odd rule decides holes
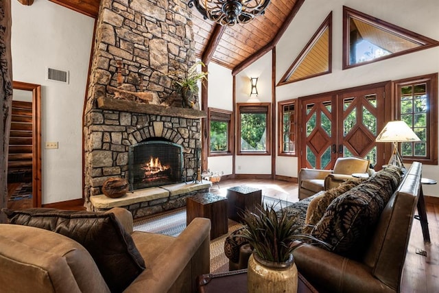
[[[390,82],[300,98],[300,167],[332,169],[338,157],[359,156],[381,169],[384,145],[375,137],[392,115],[386,93]]]

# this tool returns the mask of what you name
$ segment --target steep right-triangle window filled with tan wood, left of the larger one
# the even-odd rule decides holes
[[[332,12],[320,25],[299,56],[294,60],[278,85],[313,78],[332,71]]]

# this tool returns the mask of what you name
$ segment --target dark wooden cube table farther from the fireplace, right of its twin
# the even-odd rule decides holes
[[[254,211],[257,204],[261,205],[262,190],[248,186],[237,186],[227,189],[228,218],[241,222],[239,212],[248,209]]]

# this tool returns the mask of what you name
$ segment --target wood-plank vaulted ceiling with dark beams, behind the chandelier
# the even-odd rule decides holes
[[[50,0],[88,16],[97,17],[99,0]],[[195,54],[238,73],[272,49],[305,0],[271,0],[264,15],[246,24],[221,26],[204,20],[193,8]]]

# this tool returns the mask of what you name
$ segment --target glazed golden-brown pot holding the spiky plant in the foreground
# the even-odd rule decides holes
[[[297,292],[297,267],[293,255],[285,263],[259,259],[254,253],[248,259],[249,293]]]

